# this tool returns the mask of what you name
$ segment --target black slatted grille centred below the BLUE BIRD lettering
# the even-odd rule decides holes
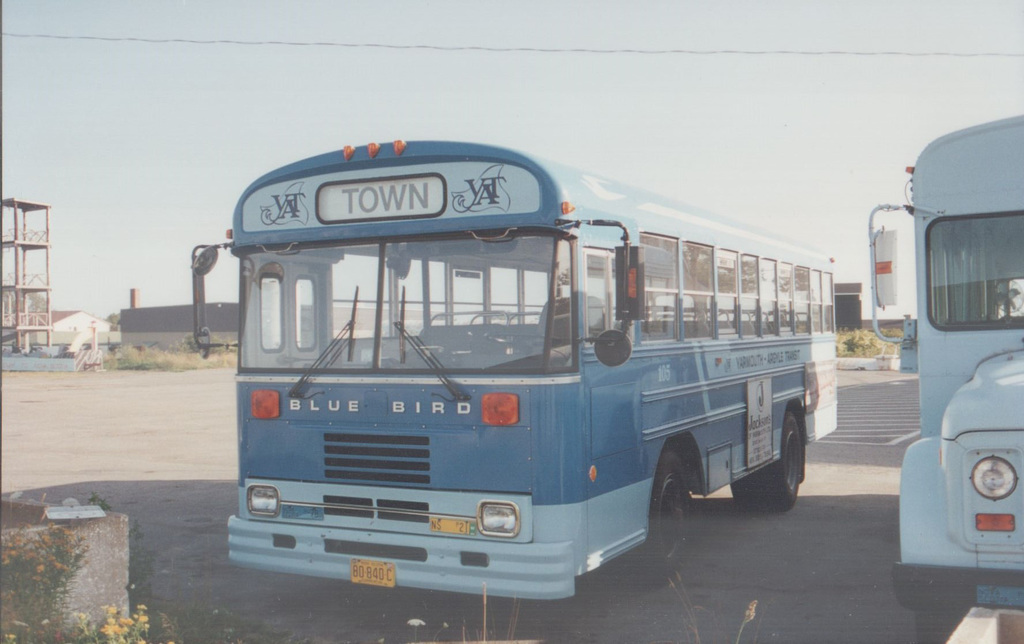
[[[337,481],[430,484],[430,437],[324,434],[324,476]]]

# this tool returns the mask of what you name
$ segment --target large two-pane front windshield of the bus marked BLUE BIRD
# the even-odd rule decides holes
[[[570,266],[548,235],[260,249],[243,257],[240,367],[566,371]]]

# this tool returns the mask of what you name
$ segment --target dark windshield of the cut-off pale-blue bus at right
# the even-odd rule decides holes
[[[929,313],[937,327],[1024,327],[1024,214],[948,218],[928,230]]]

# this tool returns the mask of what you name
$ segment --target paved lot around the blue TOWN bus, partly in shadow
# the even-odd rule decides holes
[[[844,373],[841,409],[851,387],[901,380]],[[414,617],[428,625],[420,639],[479,635],[479,597],[229,566],[233,404],[224,371],[4,374],[3,491],[50,501],[100,495],[138,521],[157,554],[155,591],[165,598],[223,606],[318,642],[409,641]],[[898,556],[898,469],[816,456],[842,447],[849,445],[813,447],[801,500],[784,515],[743,514],[727,491],[702,500],[691,557],[665,571],[678,572],[678,588],[641,583],[649,565],[628,555],[583,577],[571,599],[492,598],[490,638],[514,622],[517,637],[549,642],[732,642],[757,599],[744,641],[910,641],[912,615],[896,605],[889,578]]]

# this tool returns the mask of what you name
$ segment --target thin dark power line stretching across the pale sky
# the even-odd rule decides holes
[[[1024,53],[1004,51],[850,51],[833,50],[799,50],[799,49],[632,49],[592,47],[494,47],[478,45],[394,45],[385,43],[346,43],[346,42],[301,42],[289,40],[197,40],[191,38],[135,38],[121,36],[59,36],[56,34],[12,34],[3,32],[7,38],[35,38],[49,40],[85,40],[100,42],[126,42],[143,44],[181,44],[181,45],[241,45],[279,46],[279,47],[337,47],[344,49],[398,49],[398,50],[429,50],[429,51],[483,51],[495,53],[587,53],[587,54],[640,54],[640,55],[738,55],[738,56],[902,56],[910,58],[1024,58]]]

